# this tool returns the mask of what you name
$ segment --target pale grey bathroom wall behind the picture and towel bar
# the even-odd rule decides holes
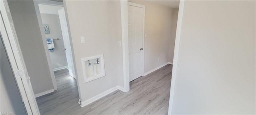
[[[64,43],[61,35],[61,30],[59,26],[58,16],[55,14],[41,14],[43,24],[48,24],[50,34],[45,34],[46,38],[52,38],[60,40],[53,40],[54,51],[50,52],[52,68],[58,68],[67,66],[66,54],[64,49]]]

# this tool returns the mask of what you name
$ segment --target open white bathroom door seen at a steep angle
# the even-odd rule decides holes
[[[66,21],[66,15],[64,8],[58,10],[59,18],[60,18],[60,28],[62,32],[63,42],[64,42],[64,51],[66,51],[66,58],[68,62],[68,70],[69,75],[76,78],[75,67],[73,63],[72,50],[70,45],[70,39],[68,34],[68,25]]]

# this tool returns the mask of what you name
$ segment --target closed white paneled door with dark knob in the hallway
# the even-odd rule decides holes
[[[143,8],[128,5],[130,81],[142,76]]]

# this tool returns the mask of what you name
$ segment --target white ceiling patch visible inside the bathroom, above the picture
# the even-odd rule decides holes
[[[41,14],[58,14],[58,10],[62,9],[62,6],[51,6],[38,4]]]

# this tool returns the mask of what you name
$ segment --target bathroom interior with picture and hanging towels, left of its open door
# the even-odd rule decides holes
[[[48,43],[47,48],[50,54],[52,68],[54,71],[67,69],[68,63],[58,14],[58,10],[64,9],[64,7],[44,4],[38,4],[38,6],[44,28],[44,35],[46,39],[48,39],[46,43]],[[51,40],[49,41],[49,39]]]

